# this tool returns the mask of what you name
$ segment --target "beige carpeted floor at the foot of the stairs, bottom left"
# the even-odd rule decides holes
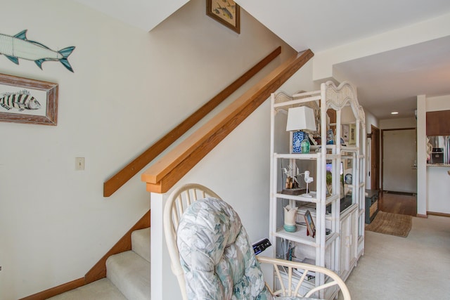
[[[51,300],[127,300],[108,278],[102,278],[71,291],[49,298]],[[150,299],[150,298],[148,298]]]

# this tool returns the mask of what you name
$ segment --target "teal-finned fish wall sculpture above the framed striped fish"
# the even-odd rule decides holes
[[[41,70],[44,61],[59,61],[70,72],[73,72],[72,66],[68,61],[68,56],[72,54],[75,46],[54,51],[37,41],[30,41],[27,39],[26,34],[27,30],[23,30],[12,37],[10,35],[0,34],[0,54],[3,54],[17,65],[19,64],[19,58],[33,60]]]

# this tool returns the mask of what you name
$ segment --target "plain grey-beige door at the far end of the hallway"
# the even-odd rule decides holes
[[[383,190],[417,193],[416,129],[383,131]]]

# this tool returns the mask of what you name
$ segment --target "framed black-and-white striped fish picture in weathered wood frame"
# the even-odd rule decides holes
[[[0,122],[56,126],[58,84],[0,74]]]

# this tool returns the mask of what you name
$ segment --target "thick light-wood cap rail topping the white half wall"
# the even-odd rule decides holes
[[[150,166],[141,175],[141,180],[147,183],[147,190],[166,193],[313,56],[314,53],[308,49],[287,60]]]

